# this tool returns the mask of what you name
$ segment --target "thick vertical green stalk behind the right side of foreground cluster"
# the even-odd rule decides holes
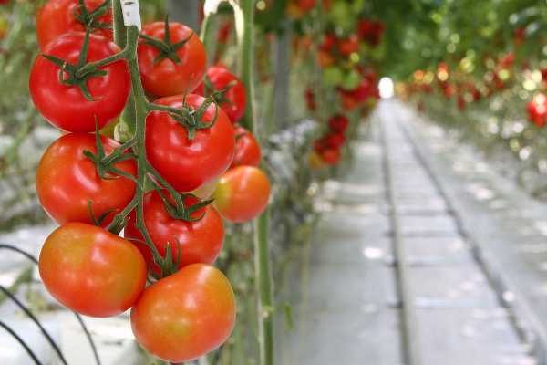
[[[234,6],[238,38],[241,47],[241,77],[247,92],[247,106],[243,127],[256,133],[254,114],[254,0],[241,0]],[[243,23],[243,26],[242,26]],[[258,343],[261,365],[274,365],[274,293],[268,246],[269,212],[266,211],[254,222],[254,276],[258,307]]]

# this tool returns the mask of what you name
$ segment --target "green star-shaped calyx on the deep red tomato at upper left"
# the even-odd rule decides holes
[[[108,72],[104,69],[99,69],[98,66],[88,64],[88,51],[89,51],[89,30],[86,31],[86,37],[84,38],[84,44],[80,51],[77,64],[69,64],[66,60],[51,55],[42,55],[48,61],[57,65],[59,70],[59,83],[67,86],[76,86],[84,97],[89,101],[94,101],[91,92],[88,88],[89,78],[105,77]]]

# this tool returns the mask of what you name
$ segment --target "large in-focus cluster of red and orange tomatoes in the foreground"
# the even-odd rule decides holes
[[[243,83],[223,66],[206,69],[199,37],[167,20],[143,27],[131,63],[112,42],[108,4],[49,0],[37,15],[42,53],[30,94],[65,132],[37,169],[40,203],[60,224],[40,253],[40,276],[78,313],[131,308],[143,348],[171,362],[193,360],[222,345],[234,326],[232,286],[211,266],[223,219],[261,214],[270,183],[258,167],[260,145],[237,124]],[[153,103],[130,75],[139,75]],[[133,102],[149,109],[142,135],[123,143],[100,136],[128,108],[131,89]]]

